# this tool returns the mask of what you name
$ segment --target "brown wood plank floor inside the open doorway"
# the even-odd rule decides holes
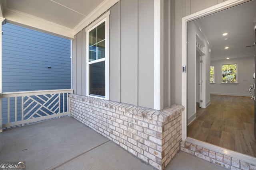
[[[211,95],[207,108],[197,105],[188,137],[256,157],[254,100],[250,97]]]

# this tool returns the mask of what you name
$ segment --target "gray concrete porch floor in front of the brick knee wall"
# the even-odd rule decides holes
[[[0,162],[25,161],[26,170],[155,170],[72,117],[0,133]],[[166,170],[223,170],[180,151]]]

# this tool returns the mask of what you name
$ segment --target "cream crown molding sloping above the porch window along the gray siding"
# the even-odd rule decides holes
[[[76,35],[86,26],[88,26],[92,21],[96,20],[100,15],[106,12],[109,8],[111,8],[114,4],[116,4],[119,0],[104,0],[99,6],[97,6],[84,20],[82,20],[76,27],[74,27],[73,32]]]

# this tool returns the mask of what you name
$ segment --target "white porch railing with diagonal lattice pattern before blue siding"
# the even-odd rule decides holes
[[[3,128],[69,115],[72,89],[2,93]]]

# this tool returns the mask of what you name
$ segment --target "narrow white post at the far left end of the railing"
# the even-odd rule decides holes
[[[5,18],[0,17],[2,25],[6,23]],[[2,25],[0,27],[0,133],[3,131],[3,117],[2,117]]]

